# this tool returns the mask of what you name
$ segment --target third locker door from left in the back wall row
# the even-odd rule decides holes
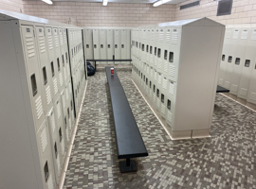
[[[101,60],[107,59],[107,30],[100,29],[100,57]],[[107,64],[107,61],[101,61],[101,64]]]

